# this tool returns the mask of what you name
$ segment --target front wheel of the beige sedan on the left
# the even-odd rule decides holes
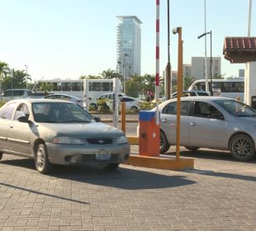
[[[39,144],[36,147],[35,163],[36,163],[36,169],[38,172],[42,174],[50,172],[51,164],[49,163],[49,160],[48,160],[48,154],[45,148],[45,144]]]

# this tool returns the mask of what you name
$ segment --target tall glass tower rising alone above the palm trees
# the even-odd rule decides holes
[[[124,78],[140,75],[142,22],[137,16],[117,16],[121,23],[116,30],[116,69]]]

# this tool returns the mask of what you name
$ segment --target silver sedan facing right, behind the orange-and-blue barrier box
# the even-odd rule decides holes
[[[161,153],[176,145],[176,108],[177,99],[159,105]],[[180,145],[188,150],[230,150],[232,157],[240,161],[255,157],[256,110],[240,101],[225,97],[182,97],[180,121]]]

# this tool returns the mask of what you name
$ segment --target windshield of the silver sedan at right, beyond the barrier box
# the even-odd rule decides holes
[[[216,104],[220,105],[231,115],[237,117],[256,116],[256,110],[240,101],[235,100],[216,100]]]

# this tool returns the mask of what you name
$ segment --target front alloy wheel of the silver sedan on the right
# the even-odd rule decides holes
[[[233,158],[246,161],[254,158],[254,141],[247,134],[236,134],[230,140],[230,153]]]

